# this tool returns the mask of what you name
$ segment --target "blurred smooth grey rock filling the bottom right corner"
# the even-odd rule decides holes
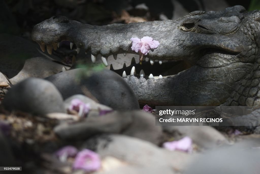
[[[259,141],[257,141],[259,145]],[[195,158],[190,166],[187,166],[186,174],[201,173],[258,173],[259,149],[250,149],[248,140],[246,143],[221,147],[211,150],[199,158]]]

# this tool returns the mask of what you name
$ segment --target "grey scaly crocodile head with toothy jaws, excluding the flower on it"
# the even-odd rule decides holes
[[[120,75],[126,71],[125,80],[139,102],[220,105],[258,68],[259,21],[260,13],[247,12],[239,5],[218,12],[194,11],[177,20],[106,26],[54,16],[37,24],[32,38],[41,48],[46,44],[49,53],[59,42],[69,40],[77,48],[90,51],[93,61],[101,54],[107,65],[110,55],[116,59],[118,53],[139,54],[132,51],[131,38],[152,37],[160,45],[146,56],[151,64],[154,60],[159,62],[136,64],[137,75],[130,75],[133,64],[115,70]],[[138,75],[141,69],[147,76]],[[149,78],[149,74],[154,77]],[[160,74],[164,75],[162,79],[158,77]]]

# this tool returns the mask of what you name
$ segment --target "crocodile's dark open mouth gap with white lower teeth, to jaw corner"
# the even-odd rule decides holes
[[[178,73],[185,71],[191,68],[193,65],[196,65],[196,62],[200,58],[210,58],[212,56],[232,58],[232,56],[237,55],[236,53],[231,53],[226,50],[215,49],[215,48],[204,48],[198,51],[199,56],[193,57],[192,60],[184,60],[185,58],[180,58],[180,60],[154,60],[146,58],[146,61],[143,61],[142,64],[136,63],[134,57],[132,58],[131,65],[126,67],[123,65],[121,69],[113,69],[112,64],[110,65],[110,70],[121,75],[123,78],[127,76],[139,76],[146,79],[163,79],[167,76],[177,75]],[[198,65],[198,64],[197,64]],[[227,66],[225,64],[221,67]],[[199,65],[200,66],[200,65]],[[204,68],[217,68],[217,67],[204,67]]]

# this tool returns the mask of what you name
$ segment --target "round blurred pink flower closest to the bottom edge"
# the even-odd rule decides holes
[[[83,169],[86,172],[96,171],[101,167],[99,155],[88,149],[80,151],[74,161],[74,169]]]

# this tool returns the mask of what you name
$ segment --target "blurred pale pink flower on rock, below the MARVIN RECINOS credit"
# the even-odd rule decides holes
[[[192,152],[192,139],[186,136],[178,141],[165,142],[162,146],[170,151],[177,150],[190,153]]]

